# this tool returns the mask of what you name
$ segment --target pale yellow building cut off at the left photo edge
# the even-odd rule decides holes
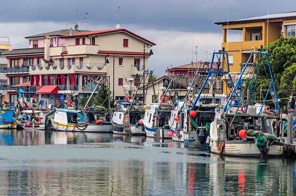
[[[0,37],[0,54],[7,52],[10,50],[10,41],[9,38]],[[7,59],[5,57],[0,56],[0,68],[7,67]],[[7,85],[7,78],[5,75],[0,75],[0,90]],[[6,100],[7,92],[0,93],[0,102]]]

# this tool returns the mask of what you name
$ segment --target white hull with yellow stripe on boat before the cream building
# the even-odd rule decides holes
[[[96,133],[104,133],[104,132],[112,132],[112,126],[110,122],[104,122],[103,124],[66,124],[54,119],[50,119],[53,125],[53,129],[56,131],[71,131],[71,132],[96,132]],[[86,127],[85,127],[86,126]]]

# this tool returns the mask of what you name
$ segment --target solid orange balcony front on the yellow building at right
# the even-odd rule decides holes
[[[260,48],[261,45],[264,46],[263,40],[228,42],[228,51],[251,50],[252,47],[256,51],[256,48]],[[222,43],[222,48],[227,51],[227,42]]]

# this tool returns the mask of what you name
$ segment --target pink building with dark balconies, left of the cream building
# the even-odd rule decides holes
[[[73,30],[73,33],[82,33],[85,31]],[[0,87],[0,92],[7,92],[6,102],[13,106],[17,102],[17,92],[19,88],[24,88],[27,102],[30,102],[33,94],[36,93],[36,87],[30,87],[29,66],[33,64],[42,64],[44,58],[44,37],[50,36],[50,47],[64,46],[65,39],[61,36],[70,35],[70,30],[59,30],[44,34],[25,37],[29,40],[29,48],[13,49],[1,54],[7,58],[7,68],[0,68],[0,74],[7,77],[7,85]],[[13,87],[18,85],[18,87]],[[25,89],[26,88],[26,89]]]

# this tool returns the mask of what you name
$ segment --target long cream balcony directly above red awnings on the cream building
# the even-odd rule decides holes
[[[104,63],[47,63],[30,65],[30,75],[97,73],[106,74]]]

